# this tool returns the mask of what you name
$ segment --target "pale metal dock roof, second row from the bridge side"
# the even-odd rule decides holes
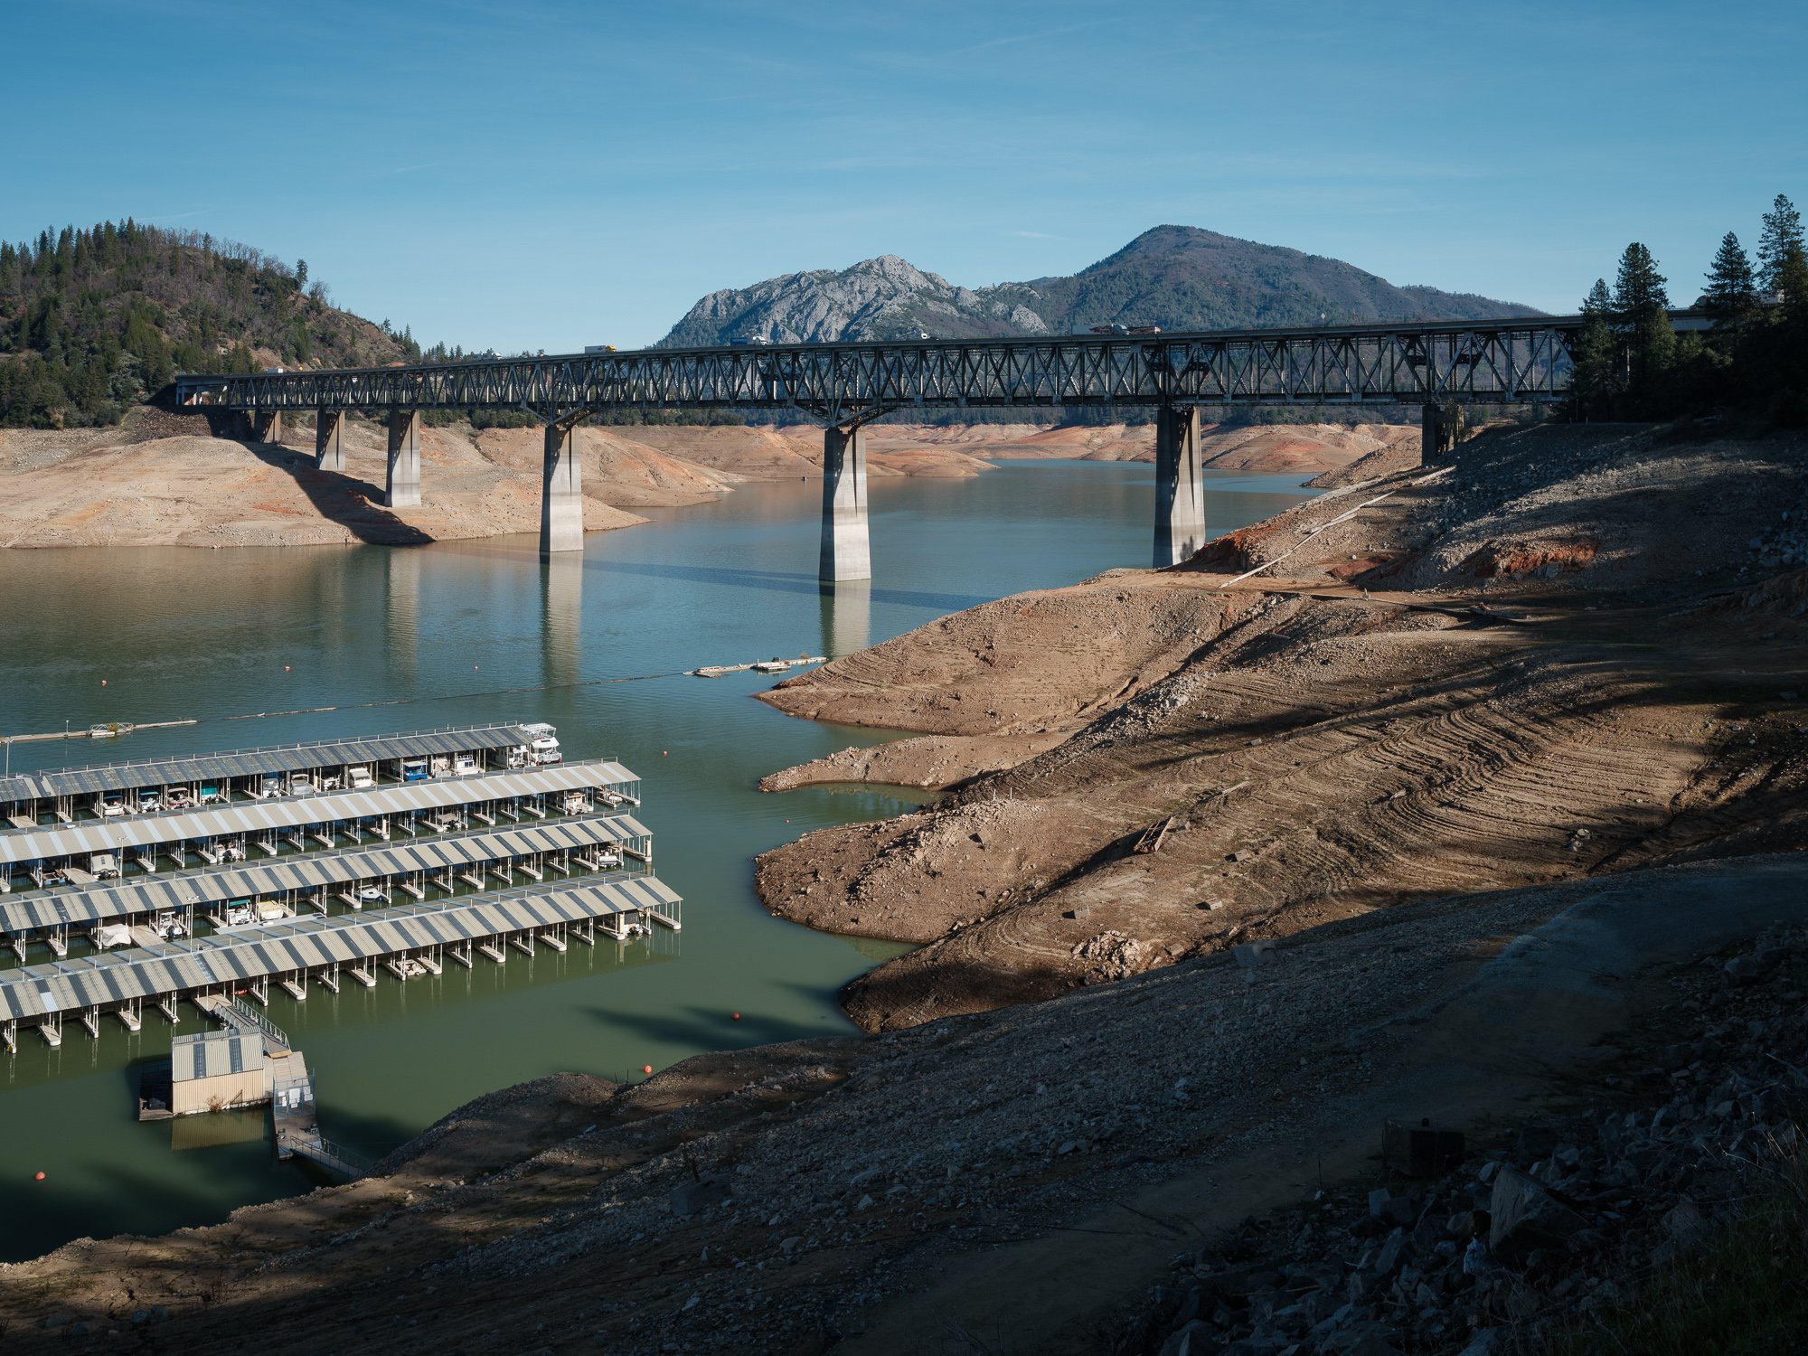
[[[401,786],[378,786],[362,792],[322,792],[318,796],[213,805],[202,810],[92,819],[60,828],[13,828],[0,832],[0,866],[94,852],[118,853],[154,843],[268,833],[304,824],[407,814],[409,810],[441,810],[515,796],[595,790],[627,781],[638,781],[638,777],[620,763],[555,763],[519,772],[410,781]]]

